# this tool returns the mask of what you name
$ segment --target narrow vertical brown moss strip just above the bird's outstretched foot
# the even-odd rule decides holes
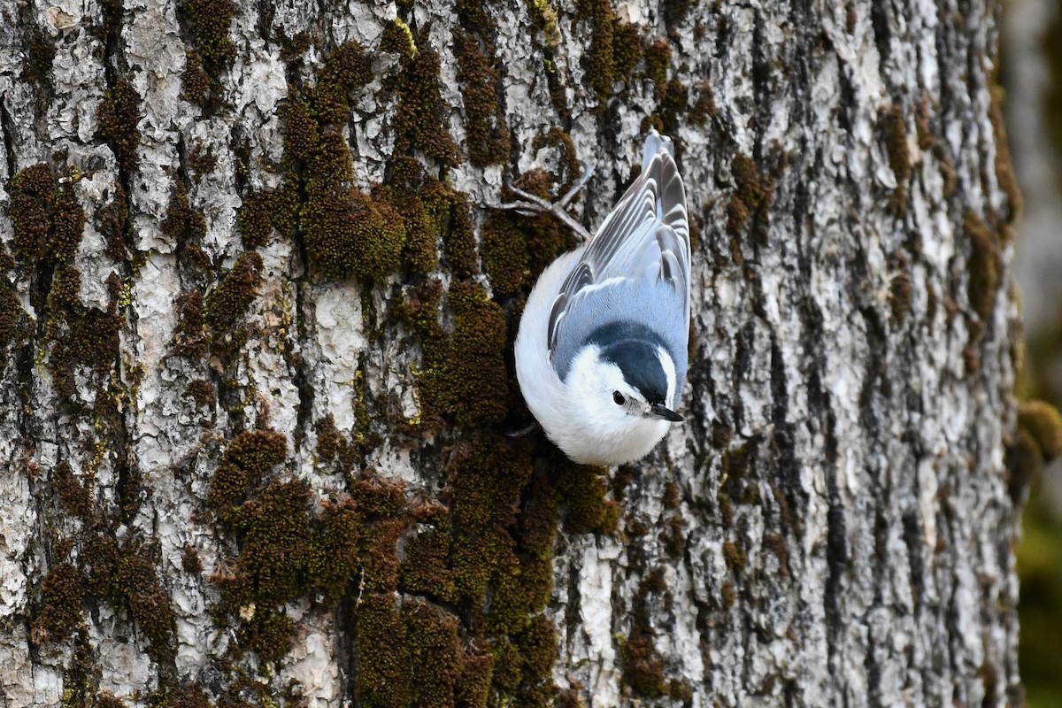
[[[509,126],[501,111],[496,86],[498,70],[473,35],[453,30],[458,83],[464,96],[468,159],[476,167],[501,165],[509,159]]]

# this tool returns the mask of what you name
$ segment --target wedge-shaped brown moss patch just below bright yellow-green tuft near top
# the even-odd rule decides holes
[[[419,51],[407,55],[397,79],[398,105],[392,122],[394,155],[424,153],[445,167],[459,162],[447,128],[447,109],[439,91],[439,54],[425,37]]]

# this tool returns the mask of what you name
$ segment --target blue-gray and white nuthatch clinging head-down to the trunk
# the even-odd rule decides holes
[[[558,205],[518,194],[572,224]],[[675,411],[688,365],[690,260],[674,148],[652,129],[641,173],[593,237],[543,271],[516,334],[528,409],[573,462],[639,460],[683,420]]]

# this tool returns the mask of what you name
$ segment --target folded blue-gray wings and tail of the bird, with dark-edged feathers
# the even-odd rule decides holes
[[[615,283],[617,278],[670,284],[681,299],[683,322],[689,323],[689,271],[686,190],[674,163],[671,140],[654,129],[646,138],[641,174],[605,218],[561,284],[549,315],[550,357],[556,351],[571,309],[578,308],[595,287]]]

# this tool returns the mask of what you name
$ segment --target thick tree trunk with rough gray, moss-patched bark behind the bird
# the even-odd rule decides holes
[[[993,13],[0,5],[0,701],[1017,701]],[[503,434],[572,241],[484,205],[650,124],[687,424],[606,473]]]

